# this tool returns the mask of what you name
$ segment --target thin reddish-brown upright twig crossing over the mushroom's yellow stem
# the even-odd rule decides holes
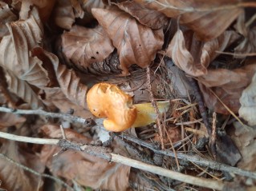
[[[151,79],[150,79],[150,67],[149,66],[147,66],[147,80],[148,80],[148,91],[149,91],[151,104],[156,113],[156,124],[158,126],[159,133],[160,133],[161,148],[165,149],[164,140],[163,140],[163,131],[162,131],[161,120],[160,120],[161,115],[160,115],[160,111],[156,105],[156,101],[154,100],[154,96],[152,94],[152,86],[151,86]]]

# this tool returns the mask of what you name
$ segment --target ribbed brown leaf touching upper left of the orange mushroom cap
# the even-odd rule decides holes
[[[51,57],[52,60],[55,60],[53,62],[55,74],[63,94],[73,103],[86,107],[87,86],[80,82],[80,78],[74,70],[68,70],[67,66],[60,64],[59,59],[54,54],[51,54]]]

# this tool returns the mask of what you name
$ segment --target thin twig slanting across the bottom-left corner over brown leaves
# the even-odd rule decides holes
[[[10,163],[12,163],[14,165],[17,165],[19,168],[22,168],[22,169],[24,169],[24,170],[26,170],[26,171],[28,171],[30,173],[35,174],[36,176],[50,178],[51,180],[54,180],[54,181],[58,182],[60,185],[64,185],[65,187],[67,187],[67,189],[74,190],[74,189],[71,188],[70,185],[67,185],[66,182],[60,180],[58,177],[53,177],[53,176],[51,176],[51,175],[49,175],[47,173],[38,173],[34,169],[30,169],[26,165],[22,165],[22,164],[18,163],[17,161],[14,161],[10,157],[7,157],[5,154],[0,153],[0,157],[6,159],[6,161],[9,161]]]

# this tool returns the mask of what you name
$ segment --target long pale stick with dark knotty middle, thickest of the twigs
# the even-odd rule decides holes
[[[1,135],[2,135],[2,132],[0,132],[0,137],[1,137]],[[10,139],[10,137],[12,137],[12,136],[9,136],[9,139]],[[21,137],[21,136],[16,136],[16,137],[20,137],[20,138],[19,139],[16,138],[16,139],[14,139],[14,141],[24,140],[24,137]],[[39,141],[39,138],[26,137],[26,140],[30,140],[31,143],[35,143],[36,141]],[[100,148],[99,146],[98,146],[98,149],[95,149],[95,146],[91,146],[91,148],[92,147],[93,148],[88,149],[88,148],[90,148],[90,145],[81,145],[79,143],[75,143],[75,142],[71,142],[71,141],[67,141],[67,140],[58,140],[58,139],[53,139],[53,140],[54,141],[49,142],[48,145],[59,145],[62,147],[64,146],[65,149],[77,149],[79,151],[84,151],[86,153],[96,155],[97,157],[103,157],[105,159],[108,159],[108,157],[106,158],[105,155],[102,155],[101,150],[100,150],[100,152],[98,152],[98,149]],[[43,141],[39,141],[39,142],[41,143]],[[56,144],[56,142],[57,142],[57,144]],[[106,151],[106,150],[104,150],[104,151]],[[107,152],[108,152],[108,150],[107,150]],[[157,167],[155,165],[148,165],[148,164],[145,164],[144,162],[136,161],[136,160],[133,160],[128,157],[123,157],[123,156],[120,156],[115,153],[110,153],[109,156],[110,156],[109,161],[118,162],[123,165],[132,166],[136,169],[143,169],[150,173],[156,173],[158,175],[161,175],[164,177],[169,177],[169,178],[172,178],[177,181],[182,181],[185,183],[189,183],[192,185],[198,185],[198,186],[202,186],[202,187],[210,188],[210,189],[221,190],[224,188],[224,183],[222,181],[215,181],[215,180],[210,180],[210,179],[201,178],[201,177],[193,177],[193,176],[189,176],[189,175],[186,175],[183,173],[177,173],[177,172],[169,170],[169,169],[163,169],[163,168]]]

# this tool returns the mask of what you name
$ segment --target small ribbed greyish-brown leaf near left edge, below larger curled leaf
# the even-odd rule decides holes
[[[10,92],[21,97],[22,100],[26,101],[31,109],[43,108],[43,102],[39,99],[35,91],[31,87],[19,78],[16,78],[14,74],[6,71],[6,80]]]

